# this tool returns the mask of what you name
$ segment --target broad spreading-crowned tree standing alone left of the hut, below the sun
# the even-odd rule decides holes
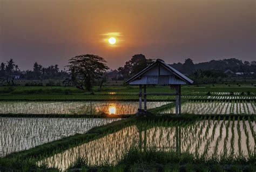
[[[93,84],[102,80],[103,74],[109,69],[105,63],[104,58],[93,54],[71,58],[68,67],[74,84],[82,90],[92,91]]]

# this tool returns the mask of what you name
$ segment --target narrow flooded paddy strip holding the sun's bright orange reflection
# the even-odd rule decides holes
[[[170,102],[147,102],[155,108]],[[0,114],[134,114],[138,102],[0,102]]]

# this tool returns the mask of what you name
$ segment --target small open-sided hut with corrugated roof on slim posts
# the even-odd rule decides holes
[[[126,83],[139,85],[139,113],[144,113],[147,110],[147,95],[176,95],[176,114],[178,115],[181,113],[181,85],[192,84],[193,81],[163,60],[157,59],[156,62],[134,75]],[[176,93],[147,93],[147,85],[170,85],[176,90]],[[142,92],[142,86],[144,92]],[[142,110],[142,95],[144,95],[144,111]]]

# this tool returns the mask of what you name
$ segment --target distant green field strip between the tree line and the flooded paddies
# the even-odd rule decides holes
[[[93,87],[91,92],[78,90],[76,87],[46,87],[46,86],[15,86],[0,87],[2,101],[137,101],[138,86],[105,86],[102,91]],[[148,86],[147,92],[174,92],[169,86]],[[213,86],[183,86],[181,94],[186,99],[206,99],[208,92],[243,92],[246,96],[256,94],[256,87],[213,87]],[[250,92],[250,95],[247,95]],[[213,94],[213,93],[212,93]],[[214,94],[213,94],[214,95]],[[202,96],[202,97],[193,97]],[[237,95],[236,95],[237,96]],[[242,95],[241,95],[242,96]],[[174,96],[148,95],[149,101],[174,100]]]

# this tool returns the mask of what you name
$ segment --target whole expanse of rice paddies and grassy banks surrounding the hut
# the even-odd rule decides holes
[[[185,88],[179,117],[174,115],[173,95],[148,95],[147,109],[152,114],[132,115],[138,111],[138,88],[123,88],[95,95],[76,90],[67,95],[54,95],[53,91],[49,95],[22,94],[22,90],[16,91],[21,94],[0,95],[0,116],[5,116],[0,117],[0,171],[20,167],[23,171],[28,167],[65,171],[81,159],[90,167],[114,167],[133,159],[131,154],[138,151],[136,160],[152,152],[153,156],[159,153],[191,159],[190,163],[226,166],[238,162],[244,166],[253,162],[255,166],[254,87],[232,91]],[[149,88],[166,92],[170,87],[161,89]],[[37,101],[32,101],[34,98]],[[122,115],[129,118],[120,120]],[[106,116],[115,119],[104,119]]]

